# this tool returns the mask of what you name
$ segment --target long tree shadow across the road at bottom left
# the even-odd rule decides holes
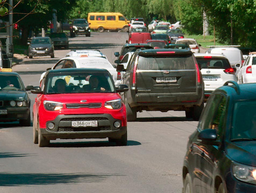
[[[78,184],[103,182],[111,176],[120,174],[85,173],[0,173],[0,186]]]

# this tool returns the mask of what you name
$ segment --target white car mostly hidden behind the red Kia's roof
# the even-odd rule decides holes
[[[114,83],[116,86],[120,84],[121,75],[120,72],[116,71],[116,66],[112,65],[106,58],[103,57],[86,57],[86,56],[74,56],[74,57],[65,57],[59,60],[52,68],[50,69],[64,69],[64,68],[96,68],[96,69],[106,69],[112,75]],[[50,70],[47,69],[47,70]],[[41,80],[44,77],[45,72],[42,73],[40,77]]]

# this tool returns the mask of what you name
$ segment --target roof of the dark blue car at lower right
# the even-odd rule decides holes
[[[256,83],[237,84],[217,88],[215,92],[223,92],[232,100],[256,100]]]

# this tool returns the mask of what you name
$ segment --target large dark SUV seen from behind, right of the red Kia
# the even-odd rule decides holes
[[[146,49],[135,51],[120,84],[127,121],[135,121],[143,110],[167,112],[184,110],[187,118],[198,120],[203,109],[204,84],[193,53],[186,49]]]

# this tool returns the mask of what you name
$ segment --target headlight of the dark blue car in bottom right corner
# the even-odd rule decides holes
[[[232,173],[240,181],[256,184],[256,167],[233,162]]]

